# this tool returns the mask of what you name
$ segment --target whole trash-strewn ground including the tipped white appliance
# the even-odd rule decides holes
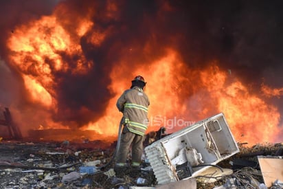
[[[283,145],[236,143],[223,113],[155,132],[163,137],[145,147],[141,166],[124,170],[113,169],[115,143],[3,141],[1,187],[282,188]]]

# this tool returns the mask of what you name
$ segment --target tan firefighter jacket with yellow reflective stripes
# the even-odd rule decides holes
[[[144,135],[148,128],[148,106],[150,102],[146,93],[139,87],[124,91],[117,100],[117,108],[123,112],[124,124],[128,131]]]

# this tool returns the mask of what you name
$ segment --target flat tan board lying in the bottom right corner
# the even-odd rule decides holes
[[[283,159],[278,157],[258,156],[260,170],[264,179],[264,184],[271,187],[275,180],[283,180]]]

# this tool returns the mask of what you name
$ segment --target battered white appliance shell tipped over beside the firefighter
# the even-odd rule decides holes
[[[167,184],[195,177],[207,168],[202,165],[217,164],[239,148],[224,114],[219,113],[163,137],[146,146],[145,152],[158,183]]]

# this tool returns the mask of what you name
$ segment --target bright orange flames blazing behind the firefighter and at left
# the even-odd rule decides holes
[[[111,16],[115,5],[110,6],[109,11]],[[58,14],[58,10],[55,13]],[[88,43],[97,47],[111,30],[91,30],[95,23],[88,18],[92,14],[89,12],[86,18],[78,19],[74,25],[76,30],[72,32],[63,27],[70,23],[59,22],[56,16],[43,16],[17,27],[8,39],[10,61],[21,73],[30,101],[46,109],[39,116],[46,119],[45,124],[38,124],[34,129],[39,126],[41,129],[60,128],[60,123],[52,120],[48,111],[57,111],[55,75],[67,71],[73,75],[83,75],[95,67],[95,63],[84,56],[80,38],[88,33]],[[69,65],[63,60],[62,54],[76,56],[75,64]],[[239,142],[273,142],[274,136],[282,133],[278,109],[267,104],[260,95],[251,93],[238,78],[218,67],[217,61],[208,67],[192,69],[183,62],[179,52],[168,48],[163,56],[144,63],[143,66],[129,68],[126,59],[122,59],[109,70],[111,85],[107,87],[114,96],[109,99],[104,115],[99,120],[89,120],[89,124],[82,125],[81,130],[94,130],[104,137],[116,136],[122,116],[115,107],[116,100],[130,87],[131,80],[140,74],[148,82],[146,93],[151,102],[148,131],[167,126],[168,133],[171,133],[183,128],[185,124],[223,112]],[[262,91],[269,96],[282,95],[282,89],[271,90],[265,86]],[[91,140],[95,139],[93,136]]]

